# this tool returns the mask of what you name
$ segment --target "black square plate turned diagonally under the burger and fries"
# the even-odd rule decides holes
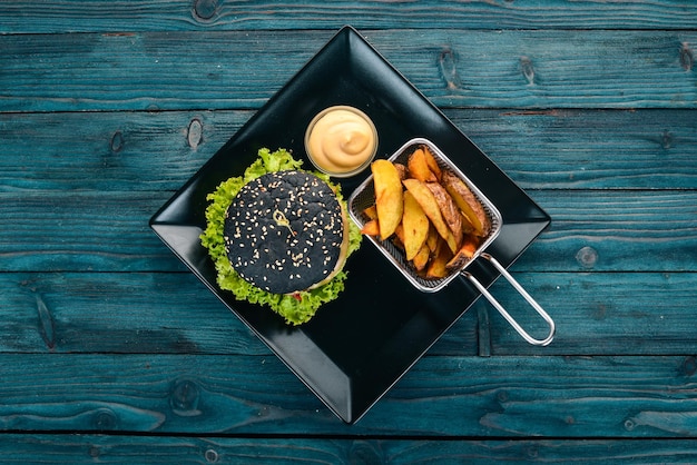
[[[206,195],[256,159],[257,150],[286,148],[312,169],[303,146],[310,120],[333,105],[360,108],[374,121],[379,158],[423,137],[446,154],[503,217],[488,248],[509,266],[549,225],[540,209],[438,108],[351,27],[331,41],[151,218],[161,240],[340,418],[356,422],[474,303],[480,294],[458,277],[439,293],[413,288],[367,240],[346,263],[344,293],[300,327],[267,308],[235,300],[216,285],[213,261],[198,236]],[[370,170],[342,185],[345,198]],[[479,263],[469,268],[485,286],[497,277]]]

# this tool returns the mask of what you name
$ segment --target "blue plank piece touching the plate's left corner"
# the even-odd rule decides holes
[[[0,195],[3,270],[183,271],[148,226],[170,192]]]

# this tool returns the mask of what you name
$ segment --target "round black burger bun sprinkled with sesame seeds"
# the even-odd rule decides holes
[[[227,257],[247,283],[295,294],[331,280],[348,250],[348,222],[332,188],[298,170],[247,182],[227,209]]]

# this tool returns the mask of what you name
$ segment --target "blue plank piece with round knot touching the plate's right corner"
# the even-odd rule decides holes
[[[691,190],[534,191],[552,225],[526,254],[521,269],[694,270],[697,216],[694,206],[683,202],[694,195]]]

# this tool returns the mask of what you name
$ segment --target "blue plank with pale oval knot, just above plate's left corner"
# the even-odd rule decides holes
[[[174,192],[252,115],[0,113],[0,190]]]

